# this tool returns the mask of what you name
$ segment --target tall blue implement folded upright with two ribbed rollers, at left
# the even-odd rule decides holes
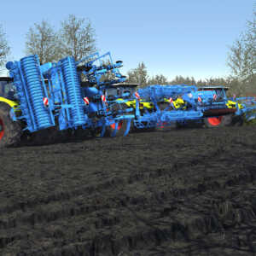
[[[123,93],[122,100],[119,96],[108,98],[112,84],[125,81],[119,73],[122,61],[113,63],[109,52],[80,61],[67,56],[44,65],[40,65],[37,55],[30,55],[9,61],[6,67],[16,91],[12,101],[15,108],[10,106],[9,113],[22,131],[79,128],[100,137],[125,136],[129,132],[134,115],[125,102],[130,95]],[[4,100],[9,104],[9,99]],[[1,131],[3,127],[6,125],[1,120]]]

